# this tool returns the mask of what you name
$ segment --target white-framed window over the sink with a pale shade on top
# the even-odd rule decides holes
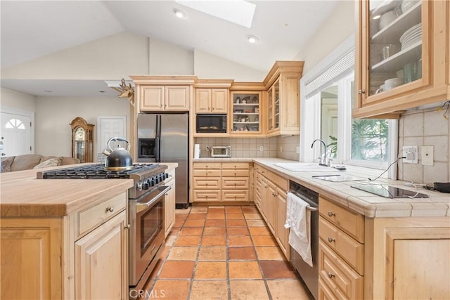
[[[354,38],[350,37],[300,80],[300,160],[316,161],[326,142],[332,164],[385,169],[397,159],[397,120],[353,119]],[[395,174],[390,174],[391,178]]]

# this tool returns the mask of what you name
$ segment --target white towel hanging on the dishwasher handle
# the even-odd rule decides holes
[[[311,211],[309,204],[293,193],[288,193],[285,228],[290,228],[289,244],[312,267]]]

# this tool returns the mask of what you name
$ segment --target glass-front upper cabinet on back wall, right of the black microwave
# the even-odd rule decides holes
[[[257,83],[236,83],[231,90],[230,135],[261,137],[264,86]]]

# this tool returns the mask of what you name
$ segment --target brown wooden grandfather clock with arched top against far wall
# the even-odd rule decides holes
[[[80,162],[94,162],[94,124],[87,124],[82,117],[70,123],[72,127],[72,157]]]

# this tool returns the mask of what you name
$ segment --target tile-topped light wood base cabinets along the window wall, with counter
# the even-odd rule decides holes
[[[295,163],[287,159],[203,158],[195,162],[252,162],[254,201],[269,228],[273,223],[271,231],[281,249],[285,237],[283,226],[279,226],[285,217],[282,194],[288,190],[288,181],[319,193],[319,299],[450,299],[449,194],[417,190],[402,181],[381,178],[375,183],[430,197],[380,197],[352,188],[357,181],[312,178],[336,174],[339,171],[335,169],[289,171],[277,165]],[[375,178],[381,172],[347,166],[338,174],[368,183],[368,177]],[[262,178],[262,185],[258,185],[258,178]],[[258,202],[257,188],[271,186],[272,193],[263,192]],[[275,200],[270,195],[276,196]]]

